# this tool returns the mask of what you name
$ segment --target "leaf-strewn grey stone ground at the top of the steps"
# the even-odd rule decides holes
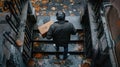
[[[66,16],[79,16],[84,13],[86,2],[84,0],[73,0],[73,2],[51,0],[47,4],[42,4],[41,1],[36,1],[35,4],[40,7],[39,11],[36,12],[38,16],[55,16],[58,10],[64,11]]]

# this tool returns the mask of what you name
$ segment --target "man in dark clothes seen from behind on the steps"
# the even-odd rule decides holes
[[[59,51],[59,47],[64,47],[64,56],[63,60],[67,59],[68,52],[68,43],[70,41],[70,35],[76,34],[76,30],[72,23],[69,23],[65,20],[65,13],[58,11],[56,13],[57,20],[53,23],[47,33],[47,39],[53,38],[54,43],[56,44],[56,51]],[[56,54],[57,59],[59,59],[59,54]]]

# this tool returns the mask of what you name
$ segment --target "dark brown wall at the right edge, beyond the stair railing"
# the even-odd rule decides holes
[[[110,0],[113,5],[107,14],[112,38],[115,41],[115,51],[120,66],[120,0]]]

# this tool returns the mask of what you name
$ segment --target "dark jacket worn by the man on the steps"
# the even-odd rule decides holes
[[[50,26],[47,39],[53,38],[55,44],[68,44],[71,34],[76,34],[72,23],[68,21],[57,21]]]

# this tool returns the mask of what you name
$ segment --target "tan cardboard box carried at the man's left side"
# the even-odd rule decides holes
[[[40,34],[42,35],[42,37],[45,37],[48,30],[49,30],[49,27],[53,24],[53,21],[49,21],[49,22],[46,22],[45,24],[41,25],[41,26],[38,26],[38,30],[40,31]]]

